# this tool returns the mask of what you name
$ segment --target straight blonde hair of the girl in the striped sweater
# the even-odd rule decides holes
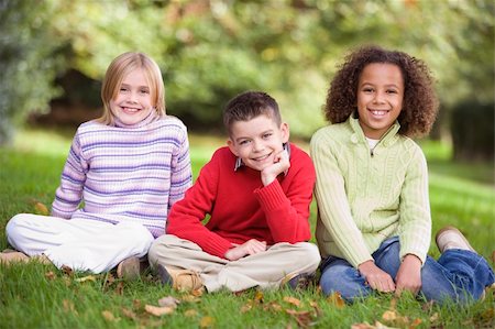
[[[110,63],[105,74],[101,86],[101,100],[103,101],[103,114],[98,121],[103,124],[113,124],[114,117],[110,110],[110,100],[117,97],[123,78],[134,69],[142,69],[147,84],[152,103],[160,117],[165,117],[165,86],[158,65],[150,56],[143,53],[128,52],[116,57]]]

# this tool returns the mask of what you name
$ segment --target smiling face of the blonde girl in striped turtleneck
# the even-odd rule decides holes
[[[122,80],[110,110],[124,124],[135,124],[153,110],[150,86],[142,69],[131,70]]]

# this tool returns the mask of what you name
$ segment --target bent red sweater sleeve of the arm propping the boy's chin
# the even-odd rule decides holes
[[[315,167],[300,150],[293,152],[292,167],[283,179],[289,182],[284,193],[278,179],[255,190],[274,242],[297,243],[311,238],[309,206],[315,187]]]

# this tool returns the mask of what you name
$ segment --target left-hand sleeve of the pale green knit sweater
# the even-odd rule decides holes
[[[311,139],[310,152],[317,175],[315,196],[324,228],[333,238],[344,259],[358,267],[373,257],[352,217],[344,177],[336,158],[338,145],[333,145],[333,143],[322,131],[317,132]],[[318,242],[322,243],[323,241]]]

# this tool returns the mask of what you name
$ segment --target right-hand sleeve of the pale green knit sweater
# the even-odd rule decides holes
[[[400,190],[400,259],[410,253],[425,264],[431,242],[428,168],[422,151],[415,146]]]

